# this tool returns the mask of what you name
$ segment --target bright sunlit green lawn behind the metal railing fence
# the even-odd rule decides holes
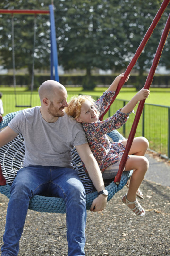
[[[106,88],[95,88],[94,91],[82,91],[79,87],[67,87],[68,101],[74,95],[78,94],[88,94],[92,95],[94,99],[97,99]],[[4,115],[10,112],[21,110],[26,107],[15,107],[15,101],[17,105],[30,105],[30,92],[26,88],[17,88],[17,95],[15,97],[14,88],[4,88],[0,87],[0,91],[3,93],[2,101],[4,105]],[[150,148],[159,152],[163,155],[167,155],[167,144],[168,144],[168,108],[163,108],[160,106],[170,107],[170,88],[151,88],[151,93],[149,98],[146,99],[146,104],[156,104],[158,106],[145,105],[145,123],[144,123],[144,136],[149,140]],[[113,115],[116,110],[123,107],[123,101],[129,101],[136,94],[134,88],[122,88],[117,96],[114,104],[110,107],[109,112],[104,118]],[[15,100],[16,99],[16,100]],[[31,106],[40,105],[39,95],[37,91],[32,94]],[[135,108],[135,112],[137,106]],[[124,125],[124,128],[120,128],[119,132],[123,134],[123,129],[125,130],[125,137],[128,137],[130,129],[133,123],[135,115],[131,114],[128,122]],[[140,118],[138,128],[135,136],[142,135],[142,116]]]

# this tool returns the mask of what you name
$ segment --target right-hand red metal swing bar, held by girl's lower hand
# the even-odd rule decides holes
[[[162,33],[162,36],[161,36],[161,39],[160,39],[160,43],[159,43],[158,48],[156,50],[156,54],[155,54],[155,57],[153,59],[153,64],[151,66],[150,72],[149,72],[148,77],[146,79],[144,89],[149,89],[150,88],[150,85],[153,81],[153,76],[154,76],[156,67],[158,66],[158,63],[159,63],[159,60],[160,60],[160,57],[161,57],[163,47],[164,47],[166,39],[168,37],[169,31],[170,31],[170,14],[169,14],[169,17],[167,19],[165,28],[163,30],[163,33]],[[119,184],[119,182],[120,182],[121,175],[122,175],[123,169],[125,167],[127,157],[128,157],[128,154],[129,154],[129,151],[130,151],[130,148],[131,148],[131,145],[132,145],[135,133],[136,133],[137,125],[139,123],[139,119],[140,119],[140,116],[142,114],[144,103],[145,103],[145,100],[142,100],[142,101],[140,101],[140,103],[138,105],[136,115],[135,115],[135,119],[134,119],[134,122],[132,124],[132,128],[131,128],[131,131],[130,131],[130,134],[129,134],[129,137],[128,137],[128,140],[127,140],[127,145],[126,145],[125,151],[123,153],[122,159],[120,161],[119,170],[118,170],[118,173],[117,173],[117,175],[114,179],[115,183]]]

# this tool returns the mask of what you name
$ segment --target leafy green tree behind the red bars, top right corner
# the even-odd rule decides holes
[[[122,2],[122,12],[121,17],[123,20],[123,27],[126,34],[128,34],[128,41],[127,41],[127,52],[129,60],[133,57],[133,54],[136,52],[137,47],[139,46],[140,42],[144,38],[147,29],[151,25],[158,9],[161,6],[162,1],[160,0],[126,0]],[[149,38],[146,46],[140,57],[138,58],[135,69],[139,71],[138,76],[138,85],[136,88],[142,88],[144,86],[144,79],[143,73],[147,69],[150,69],[155,52],[157,50],[161,34],[163,28],[165,26],[166,20],[168,18],[170,12],[170,7],[168,6],[165,12],[163,13],[159,23],[157,24],[156,28],[153,31],[153,34]],[[164,56],[166,56],[166,52],[170,50],[170,45],[165,45],[163,50],[160,65],[165,66]]]

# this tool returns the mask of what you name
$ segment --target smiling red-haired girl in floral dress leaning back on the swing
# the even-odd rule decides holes
[[[137,102],[149,96],[149,90],[142,89],[112,117],[99,121],[99,116],[110,104],[112,97],[115,95],[117,85],[123,76],[124,73],[117,76],[107,91],[95,103],[90,96],[80,95],[73,97],[66,108],[66,113],[82,124],[91,151],[102,171],[103,179],[110,179],[116,176],[127,143],[127,140],[124,140],[122,143],[111,144],[106,134],[126,123]],[[128,80],[128,77],[125,81]],[[136,139],[139,142],[139,138]],[[130,179],[128,193],[123,196],[122,202],[127,204],[136,215],[144,216],[145,210],[138,203],[136,193],[148,170],[149,163],[146,157],[139,155],[145,152],[140,149],[137,140],[134,139],[124,169],[124,171],[132,169],[134,171]],[[147,140],[143,139],[141,141],[145,144],[145,148],[148,147]]]

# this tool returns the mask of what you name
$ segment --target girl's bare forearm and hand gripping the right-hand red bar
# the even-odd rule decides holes
[[[147,89],[141,89],[138,93],[136,93],[136,95],[126,104],[126,106],[124,106],[120,111],[127,114],[129,112],[131,112],[134,107],[136,106],[136,104],[138,103],[138,101],[147,99],[148,96],[150,94],[150,91]]]

